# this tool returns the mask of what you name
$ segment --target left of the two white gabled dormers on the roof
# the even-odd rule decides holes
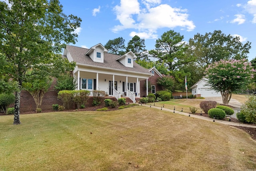
[[[90,48],[85,55],[90,56],[94,62],[104,63],[104,52],[108,52],[108,50],[102,44],[97,44]]]

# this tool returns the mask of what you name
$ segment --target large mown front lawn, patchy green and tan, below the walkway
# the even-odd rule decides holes
[[[0,116],[1,171],[256,168],[256,141],[244,131],[152,107],[20,119]]]

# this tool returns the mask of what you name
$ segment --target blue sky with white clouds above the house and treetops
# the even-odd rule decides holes
[[[174,30],[184,41],[195,34],[221,30],[252,42],[249,60],[256,57],[256,0],[60,0],[65,14],[82,18],[75,46],[90,48],[138,35],[147,50],[156,39]]]

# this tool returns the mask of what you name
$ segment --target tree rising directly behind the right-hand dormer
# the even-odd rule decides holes
[[[132,51],[137,56],[138,60],[148,61],[148,52],[145,49],[145,40],[140,39],[139,36],[134,36],[132,40],[128,42],[126,52]]]

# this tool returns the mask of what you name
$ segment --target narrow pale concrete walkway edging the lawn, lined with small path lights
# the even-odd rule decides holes
[[[146,107],[150,107],[150,105],[145,105],[145,104],[142,104],[143,106],[146,106]],[[172,109],[166,109],[164,107],[157,107],[157,106],[152,106],[151,107],[153,108],[156,108],[156,109],[160,109],[162,108],[162,110],[164,111],[170,111],[173,113],[174,110]],[[203,119],[203,120],[206,120],[206,121],[211,121],[213,122],[213,119],[210,118],[210,117],[204,117],[204,116],[200,116],[200,115],[193,115],[193,114],[190,114],[190,113],[185,113],[185,112],[181,112],[181,111],[175,111],[175,113],[178,113],[178,114],[181,114],[181,115],[190,115],[190,117],[194,117],[194,118],[198,118],[198,119]],[[218,120],[218,119],[215,119],[215,122],[217,123],[222,123],[222,124],[225,124],[225,125],[232,125],[232,126],[242,126],[242,127],[252,127],[252,128],[256,128],[255,125],[247,125],[247,124],[244,124],[244,123],[234,123],[234,122],[229,122],[229,121],[222,121],[222,120]]]

